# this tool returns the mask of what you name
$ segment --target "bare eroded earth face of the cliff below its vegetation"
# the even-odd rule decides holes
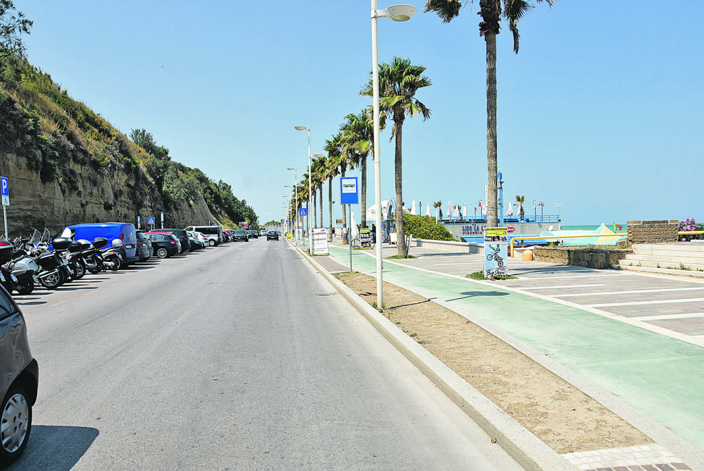
[[[175,211],[164,208],[156,186],[143,169],[135,172],[115,170],[100,175],[90,165],[73,161],[62,163],[54,178],[42,183],[39,173],[30,169],[24,157],[0,153],[0,176],[7,177],[10,206],[7,210],[9,236],[28,237],[32,230],[44,227],[49,232],[82,222],[132,222],[146,220],[164,212],[164,227],[186,227],[216,222],[203,196],[196,201],[182,201]],[[4,225],[0,222],[0,232]]]

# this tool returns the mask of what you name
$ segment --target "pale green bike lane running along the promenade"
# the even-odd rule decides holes
[[[347,249],[330,256],[349,264]],[[376,260],[353,251],[353,269]],[[621,398],[704,451],[704,348],[500,286],[384,260],[384,281],[491,323]]]

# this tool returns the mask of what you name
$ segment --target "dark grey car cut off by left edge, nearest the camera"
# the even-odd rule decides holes
[[[27,325],[12,296],[0,286],[0,467],[20,458],[32,431],[39,365],[32,358]]]

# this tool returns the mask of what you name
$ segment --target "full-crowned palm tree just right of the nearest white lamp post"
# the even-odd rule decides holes
[[[379,64],[379,108],[391,115],[394,127],[391,128],[391,139],[396,139],[396,253],[406,257],[406,238],[403,232],[403,121],[406,116],[422,115],[423,120],[430,117],[430,110],[423,103],[415,99],[415,93],[432,85],[430,79],[422,73],[425,67],[413,65],[410,59],[394,56],[390,64]],[[360,94],[372,96],[372,79],[360,90]]]

